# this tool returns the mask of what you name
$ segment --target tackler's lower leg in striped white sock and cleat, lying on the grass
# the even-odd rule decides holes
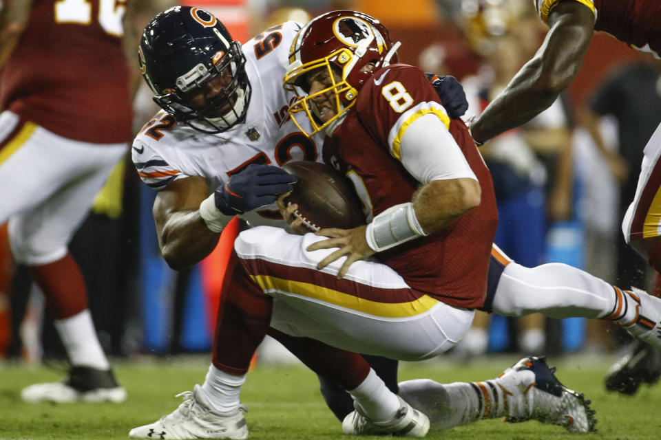
[[[484,382],[400,382],[399,395],[428,415],[432,430],[505,417],[563,426],[573,433],[593,431],[590,401],[561,384],[554,372],[543,358],[528,357]]]

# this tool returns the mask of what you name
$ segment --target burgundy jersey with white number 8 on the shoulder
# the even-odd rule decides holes
[[[456,307],[480,307],[487,285],[487,267],[498,214],[491,181],[481,155],[459,119],[450,120],[426,76],[417,67],[392,65],[380,69],[358,94],[325,155],[356,173],[377,215],[412,199],[419,183],[399,160],[399,139],[419,115],[439,115],[468,159],[482,187],[481,205],[448,228],[376,254],[421,294]]]

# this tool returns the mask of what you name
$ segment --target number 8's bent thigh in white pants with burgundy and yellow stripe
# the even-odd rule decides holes
[[[333,252],[306,251],[319,239],[268,227],[236,239],[244,269],[273,297],[273,328],[357,353],[423,360],[454,347],[470,327],[474,311],[411,289],[386,265],[357,261],[342,280],[339,263],[316,270]]]

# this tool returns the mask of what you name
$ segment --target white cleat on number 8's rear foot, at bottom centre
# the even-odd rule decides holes
[[[425,437],[429,430],[429,419],[399,397],[401,406],[389,421],[372,421],[356,407],[342,421],[345,434],[379,435],[392,434],[402,437]]]

